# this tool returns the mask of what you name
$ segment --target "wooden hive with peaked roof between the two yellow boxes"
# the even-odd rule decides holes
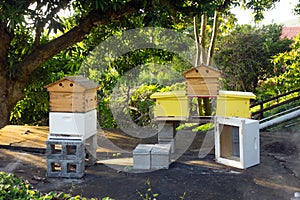
[[[207,65],[191,68],[184,73],[188,97],[215,97],[219,91],[221,72]]]

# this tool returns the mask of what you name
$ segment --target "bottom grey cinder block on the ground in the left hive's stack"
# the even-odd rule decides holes
[[[83,160],[47,159],[47,176],[62,178],[81,178],[84,175]]]

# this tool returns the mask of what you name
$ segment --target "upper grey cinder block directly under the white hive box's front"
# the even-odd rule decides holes
[[[46,157],[57,160],[84,159],[84,142],[76,140],[47,140]]]

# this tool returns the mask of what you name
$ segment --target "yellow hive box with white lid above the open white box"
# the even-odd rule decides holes
[[[217,97],[217,116],[250,118],[250,100],[256,96],[252,92],[220,90]]]

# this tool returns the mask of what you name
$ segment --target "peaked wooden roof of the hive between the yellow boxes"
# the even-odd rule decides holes
[[[221,72],[208,65],[201,64],[183,72],[185,78],[219,78]]]

